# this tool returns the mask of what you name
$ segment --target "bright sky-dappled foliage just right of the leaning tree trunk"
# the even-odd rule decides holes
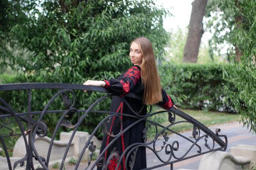
[[[235,12],[234,0],[208,0],[206,6],[206,29],[212,33],[209,40],[211,54],[220,52],[223,48],[228,48],[226,60],[232,61],[235,43],[235,20],[238,16]],[[240,49],[240,48],[239,48]]]

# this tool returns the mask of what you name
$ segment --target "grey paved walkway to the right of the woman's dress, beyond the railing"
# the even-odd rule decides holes
[[[219,135],[226,135],[228,138],[228,148],[226,150],[226,152],[230,152],[230,147],[232,146],[236,146],[238,144],[247,144],[247,145],[256,145],[256,135],[253,134],[252,132],[250,132],[246,127],[243,127],[242,124],[239,124],[239,122],[233,122],[230,124],[223,124],[223,125],[214,125],[209,127],[209,129],[211,129],[213,132],[215,132],[215,129],[219,128],[221,129],[221,132],[219,133]],[[184,136],[191,136],[192,131],[190,132],[186,132],[186,133],[182,133],[182,135]],[[177,140],[177,135],[175,136],[169,136],[170,139],[172,139],[171,141]],[[192,138],[193,139],[193,138]],[[201,139],[203,140],[203,139]],[[191,146],[191,143],[188,142],[187,140],[178,140],[179,141],[179,153],[185,153],[187,151],[187,148],[189,148]],[[210,145],[210,140],[208,140],[209,145]],[[159,140],[158,141],[158,147],[161,146],[163,140]],[[201,147],[204,147],[204,140],[201,142]],[[211,146],[211,145],[210,145]],[[194,152],[193,152],[194,149]],[[191,152],[194,154],[197,152],[197,149],[195,147],[193,147],[193,149],[191,150]],[[202,148],[203,149],[203,148]],[[164,160],[167,160],[167,156],[165,154],[162,154],[163,157],[165,157]],[[181,155],[180,155],[181,156]],[[192,169],[192,170],[198,170],[198,166],[200,163],[200,160],[202,158],[203,155],[194,157],[194,158],[190,158],[181,162],[177,162],[173,165],[174,170],[177,169]],[[153,158],[154,157],[154,158]],[[153,153],[148,152],[147,153],[147,164],[148,167],[152,167],[155,165],[159,164],[158,159],[155,158]],[[167,159],[166,159],[167,158]],[[157,168],[157,170],[170,170],[170,165],[165,166],[165,167],[160,167]]]

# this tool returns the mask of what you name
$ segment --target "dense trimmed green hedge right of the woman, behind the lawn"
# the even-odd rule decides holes
[[[181,108],[207,109],[234,113],[229,92],[236,91],[233,79],[223,78],[230,65],[167,63],[161,70],[161,82]]]

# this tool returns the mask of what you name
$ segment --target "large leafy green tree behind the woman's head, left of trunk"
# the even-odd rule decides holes
[[[2,38],[9,36],[5,49],[13,44],[12,48],[29,51],[26,58],[14,57],[16,68],[23,71],[22,82],[82,84],[87,79],[117,77],[131,67],[128,54],[134,38],[148,37],[157,58],[161,58],[168,40],[162,23],[168,12],[157,7],[154,0],[5,1],[10,5],[4,10],[8,16],[14,5],[21,11],[17,14],[22,16],[20,22],[10,21],[8,34]],[[52,94],[53,91],[33,94],[32,109],[41,110]],[[89,97],[80,91],[77,98],[76,106],[84,109],[98,94]],[[25,106],[26,101],[23,102]],[[55,104],[54,109],[60,107]],[[109,109],[106,105],[97,107]],[[22,109],[25,108],[18,111]],[[45,121],[58,119],[53,117],[54,114],[46,115]],[[87,128],[89,125],[93,129],[100,119],[88,118]]]

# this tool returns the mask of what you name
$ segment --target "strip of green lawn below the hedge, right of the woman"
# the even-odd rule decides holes
[[[194,119],[197,119],[200,123],[204,124],[205,126],[211,126],[216,124],[225,124],[230,122],[235,122],[240,120],[240,115],[238,114],[229,114],[224,112],[215,112],[215,111],[204,111],[204,110],[188,110],[188,109],[180,109],[184,113],[187,113],[189,116],[193,117]],[[159,124],[162,124],[163,126],[168,126],[170,122],[168,121],[168,114],[158,114],[150,118],[151,120],[154,120],[158,122]],[[185,119],[182,119],[178,116],[176,116],[177,121],[182,121]],[[158,132],[162,128],[158,127]],[[191,123],[177,123],[176,125],[173,125],[171,127],[172,130],[176,132],[185,132],[193,129],[193,125]],[[155,135],[155,128],[151,127],[149,129],[149,132],[147,133],[149,138],[153,137]]]

